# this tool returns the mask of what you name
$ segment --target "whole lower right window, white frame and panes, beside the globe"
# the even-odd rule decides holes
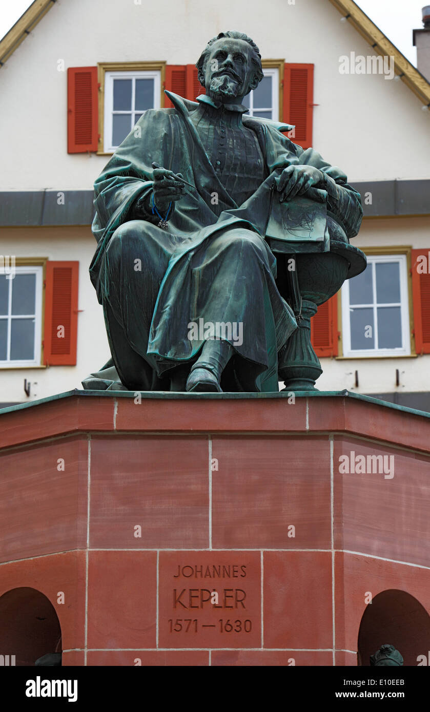
[[[406,254],[367,256],[367,268],[342,286],[345,357],[411,353]]]

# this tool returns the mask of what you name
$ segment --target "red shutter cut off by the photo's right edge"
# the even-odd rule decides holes
[[[430,354],[430,249],[412,250],[415,351]]]

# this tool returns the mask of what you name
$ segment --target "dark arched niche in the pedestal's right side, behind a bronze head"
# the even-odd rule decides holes
[[[406,591],[382,591],[367,605],[358,633],[358,665],[369,666],[369,656],[386,643],[402,654],[404,666],[416,666],[419,655],[429,654],[430,616]]]

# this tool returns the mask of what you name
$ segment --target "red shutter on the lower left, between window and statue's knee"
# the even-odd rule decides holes
[[[46,263],[43,361],[48,366],[76,364],[78,272],[79,262]]]

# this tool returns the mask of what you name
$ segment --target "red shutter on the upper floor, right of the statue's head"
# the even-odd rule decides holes
[[[313,64],[285,64],[283,120],[295,126],[293,143],[303,148],[312,146]]]

